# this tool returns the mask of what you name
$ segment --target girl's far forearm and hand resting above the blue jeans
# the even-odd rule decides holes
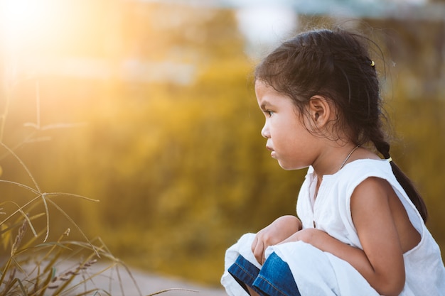
[[[252,252],[258,263],[264,263],[264,251],[268,246],[281,243],[301,228],[301,221],[296,216],[289,215],[279,217],[272,224],[258,231],[252,243]]]

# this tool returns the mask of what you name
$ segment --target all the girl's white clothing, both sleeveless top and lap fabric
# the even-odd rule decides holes
[[[416,247],[404,253],[406,282],[400,296],[445,296],[445,268],[439,246],[395,179],[387,160],[355,160],[336,174],[323,176],[316,199],[316,176],[313,169],[309,168],[297,201],[297,214],[303,227],[313,227],[315,223],[317,229],[326,231],[343,243],[362,248],[350,214],[350,197],[355,187],[368,177],[380,177],[392,185],[407,210],[410,221],[422,237]],[[221,283],[230,296],[247,295],[227,273],[227,268],[237,256],[241,254],[248,261],[259,265],[250,251],[253,237],[253,234],[242,236],[226,252],[225,273]],[[267,254],[272,251],[289,264],[302,296],[378,295],[349,263],[306,243],[271,246],[267,249]]]

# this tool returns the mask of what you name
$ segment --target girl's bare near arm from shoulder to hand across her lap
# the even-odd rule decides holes
[[[394,196],[392,187],[376,177],[355,188],[350,209],[363,251],[317,229],[304,229],[286,241],[305,241],[332,253],[353,265],[380,295],[399,295],[405,274],[402,246],[389,202]]]

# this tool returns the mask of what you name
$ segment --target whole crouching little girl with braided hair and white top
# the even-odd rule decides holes
[[[309,31],[257,66],[266,148],[284,170],[309,170],[299,218],[282,216],[227,250],[229,295],[445,295],[427,209],[390,158],[367,41]]]

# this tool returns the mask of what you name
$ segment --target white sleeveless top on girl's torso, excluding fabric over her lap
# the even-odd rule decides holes
[[[404,253],[406,282],[400,296],[445,295],[445,268],[439,246],[397,182],[388,160],[355,160],[333,175],[324,175],[316,199],[316,176],[313,168],[309,168],[296,204],[303,228],[315,225],[343,243],[362,248],[350,213],[350,197],[355,187],[368,177],[380,177],[390,183],[421,235],[420,243]]]

